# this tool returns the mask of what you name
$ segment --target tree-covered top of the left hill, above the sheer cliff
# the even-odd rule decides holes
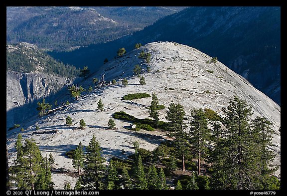
[[[43,67],[43,73],[58,74],[68,78],[79,75],[80,70],[69,64],[63,64],[40,50],[14,45],[18,49],[6,51],[6,70],[31,73],[36,65]]]

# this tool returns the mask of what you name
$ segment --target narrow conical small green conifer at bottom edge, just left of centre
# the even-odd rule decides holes
[[[145,178],[145,174],[143,171],[143,163],[142,163],[142,158],[141,155],[138,156],[137,158],[137,164],[136,164],[136,174],[135,174],[135,184],[134,188],[136,190],[146,190],[147,189],[147,182]]]

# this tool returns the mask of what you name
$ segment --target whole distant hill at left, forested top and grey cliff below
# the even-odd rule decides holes
[[[6,45],[6,126],[35,115],[31,108],[37,100],[56,94],[79,73],[80,69],[53,59],[33,44]]]

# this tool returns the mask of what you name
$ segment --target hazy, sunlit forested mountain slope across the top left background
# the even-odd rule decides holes
[[[185,7],[6,7],[6,43],[72,50],[131,34]]]

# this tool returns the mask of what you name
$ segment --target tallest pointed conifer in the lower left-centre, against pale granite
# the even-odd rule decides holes
[[[82,176],[82,189],[100,189],[103,187],[105,158],[101,156],[101,147],[93,135],[87,147],[86,166]]]

